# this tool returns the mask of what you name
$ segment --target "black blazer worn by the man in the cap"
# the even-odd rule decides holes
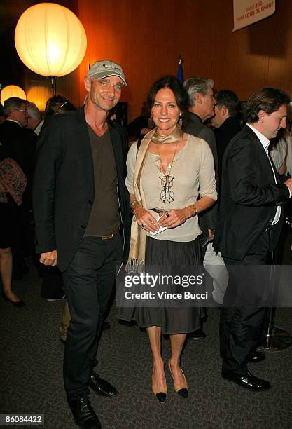
[[[125,260],[130,245],[130,199],[125,186],[127,135],[117,123],[108,121],[108,125],[118,174]],[[48,118],[36,149],[36,251],[57,249],[61,271],[70,264],[83,238],[94,200],[92,152],[84,109]]]

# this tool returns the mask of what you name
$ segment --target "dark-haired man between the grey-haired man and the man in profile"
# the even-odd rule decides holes
[[[221,183],[221,170],[223,154],[228,143],[237,132],[242,129],[239,116],[239,100],[233,91],[221,90],[214,95],[216,100],[215,116],[211,124],[215,129],[216,147],[218,154],[219,182]]]

